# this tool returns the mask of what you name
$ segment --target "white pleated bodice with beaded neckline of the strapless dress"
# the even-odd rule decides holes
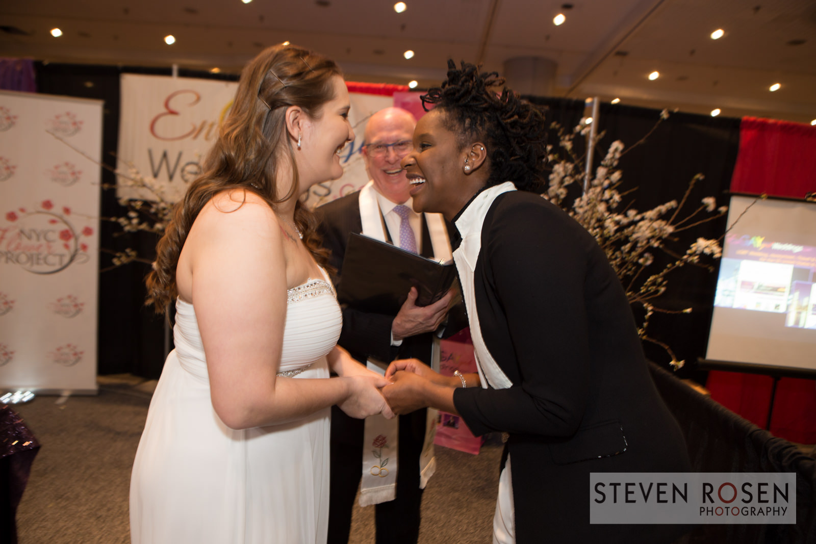
[[[193,304],[177,299],[173,329],[175,351],[190,374],[209,381]],[[340,336],[343,316],[335,290],[323,278],[309,278],[286,290],[286,325],[278,375],[299,374],[331,351]]]

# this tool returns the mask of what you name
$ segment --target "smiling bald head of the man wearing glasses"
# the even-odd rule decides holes
[[[410,197],[410,185],[400,161],[410,153],[415,126],[414,116],[402,108],[381,109],[369,117],[366,124],[366,147],[362,148],[362,156],[368,175],[377,191],[397,204]],[[400,143],[403,145],[389,145]]]

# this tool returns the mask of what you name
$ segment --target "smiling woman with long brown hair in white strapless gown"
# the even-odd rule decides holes
[[[175,303],[175,350],[133,465],[134,544],[326,542],[329,407],[392,417],[384,379],[335,347],[339,307],[298,200],[342,174],[348,108],[333,61],[261,53],[159,242],[149,302]]]

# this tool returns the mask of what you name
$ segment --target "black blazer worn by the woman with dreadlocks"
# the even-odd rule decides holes
[[[538,195],[503,193],[474,285],[482,337],[513,387],[459,388],[454,403],[475,434],[510,433],[517,542],[672,542],[672,526],[589,524],[590,472],[690,470],[592,235]]]

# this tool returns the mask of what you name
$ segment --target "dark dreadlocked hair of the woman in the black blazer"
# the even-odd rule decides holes
[[[425,111],[431,104],[444,112],[442,123],[459,135],[463,147],[483,140],[490,160],[486,187],[512,181],[523,191],[543,192],[547,175],[547,130],[539,108],[519,99],[504,87],[498,73],[480,73],[478,66],[462,62],[457,69],[448,60],[448,76],[441,86],[421,97]]]

